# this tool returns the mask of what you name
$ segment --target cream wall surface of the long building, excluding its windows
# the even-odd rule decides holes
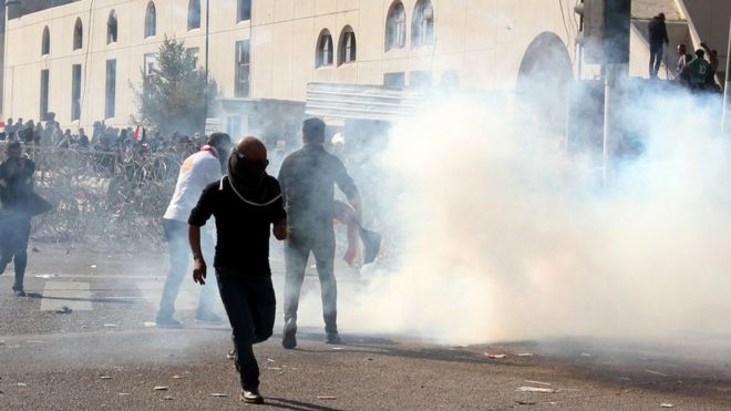
[[[165,35],[198,47],[205,55],[205,1],[202,28],[187,31],[188,0],[156,0],[157,35],[144,39],[148,0],[83,0],[9,21],[7,31],[4,117],[38,119],[40,72],[50,70],[49,110],[64,127],[90,126],[104,120],[105,64],[116,59],[116,114],[110,125],[128,125],[135,113],[130,83],[140,82],[144,54],[153,53]],[[533,39],[556,33],[574,55],[577,31],[573,3],[545,0],[433,0],[434,45],[411,49],[411,17],[416,0],[404,0],[408,21],[405,49],[384,51],[385,18],[392,0],[254,0],[251,21],[236,22],[235,0],[212,0],[210,75],[225,97],[234,96],[235,43],[251,40],[251,99],[303,102],[312,81],[382,84],[383,74],[431,71],[439,84],[454,71],[463,88],[509,90]],[[563,9],[562,6],[563,4]],[[106,44],[106,21],[114,9],[119,41]],[[84,41],[72,50],[73,28],[81,18]],[[51,53],[41,56],[41,35],[49,25]],[[315,68],[316,42],[327,28],[338,49],[341,30],[356,32],[358,61]],[[337,62],[337,56],[336,56]],[[71,122],[71,70],[82,64],[82,113]]]

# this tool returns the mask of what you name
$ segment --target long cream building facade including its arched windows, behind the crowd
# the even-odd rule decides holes
[[[9,9],[2,115],[38,120],[54,112],[72,130],[100,120],[130,125],[132,88],[155,64],[165,37],[183,40],[200,65],[208,39],[209,73],[220,88],[215,114],[234,134],[266,131],[253,126],[265,115],[279,129],[277,117],[301,116],[313,84],[516,90],[521,73],[546,69],[546,82],[570,83],[578,66],[572,1],[35,3],[28,3],[29,12]],[[637,30],[632,49],[647,53]],[[640,71],[646,63],[630,66]]]

